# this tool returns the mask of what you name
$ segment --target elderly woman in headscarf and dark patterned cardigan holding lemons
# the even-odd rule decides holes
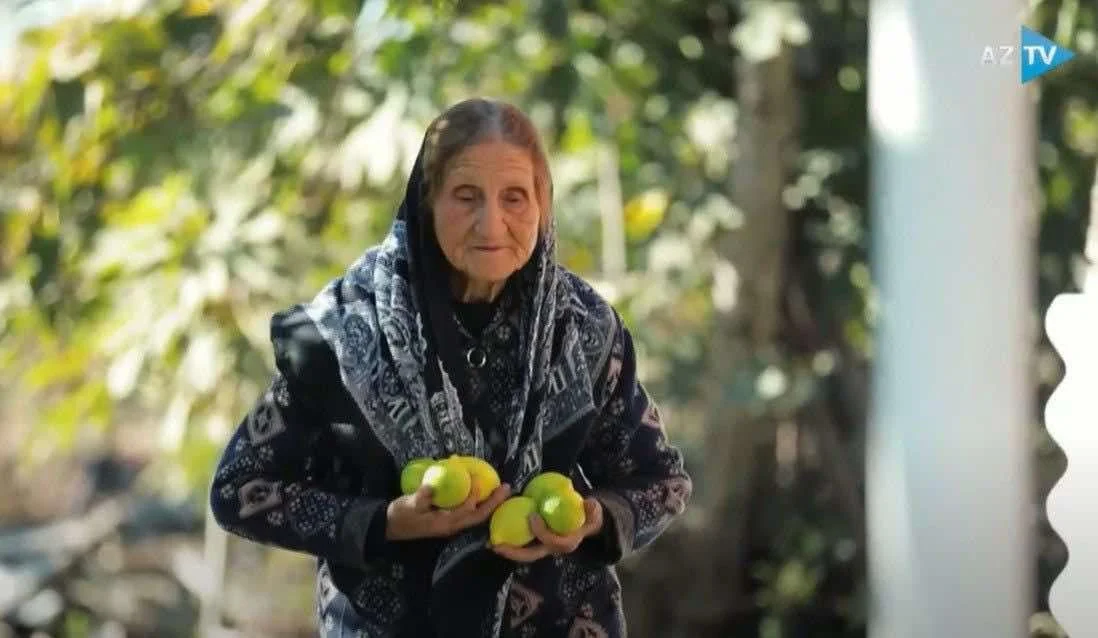
[[[211,506],[317,557],[322,637],[625,636],[614,564],[692,483],[621,318],[556,260],[551,199],[526,115],[461,102],[428,128],[384,242],[272,318],[278,371]],[[452,454],[503,484],[452,511],[401,495],[405,463]],[[546,471],[585,496],[583,527],[535,516],[529,546],[489,546],[493,510]]]

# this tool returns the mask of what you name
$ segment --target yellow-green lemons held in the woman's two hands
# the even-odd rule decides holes
[[[419,486],[432,491],[432,504],[451,510],[475,495],[483,503],[500,486],[500,475],[479,457],[453,455],[446,459],[413,459],[401,471],[401,492],[411,494]],[[554,534],[567,536],[586,523],[583,496],[572,480],[559,472],[542,472],[526,484],[522,495],[504,501],[489,522],[492,545],[523,547],[534,540],[530,516],[537,513]]]

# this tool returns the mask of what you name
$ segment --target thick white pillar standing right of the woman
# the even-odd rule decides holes
[[[1033,120],[1018,67],[981,65],[1022,9],[871,4],[873,638],[1028,636]]]

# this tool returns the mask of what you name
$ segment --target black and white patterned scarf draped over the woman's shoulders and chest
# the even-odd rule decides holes
[[[344,385],[396,467],[416,457],[490,452],[484,434],[467,427],[462,413],[463,355],[457,351],[448,267],[425,202],[423,157],[421,149],[384,240],[306,306],[335,351]],[[503,415],[500,473],[515,490],[544,469],[568,471],[574,462],[563,451],[574,446],[560,446],[553,458],[550,441],[590,421],[593,378],[613,332],[613,317],[584,316],[572,279],[557,264],[554,235],[550,223],[508,284],[517,284],[522,300],[523,379]],[[432,614],[440,636],[498,634],[514,564],[488,550],[485,540],[485,530],[474,528],[439,553]]]

